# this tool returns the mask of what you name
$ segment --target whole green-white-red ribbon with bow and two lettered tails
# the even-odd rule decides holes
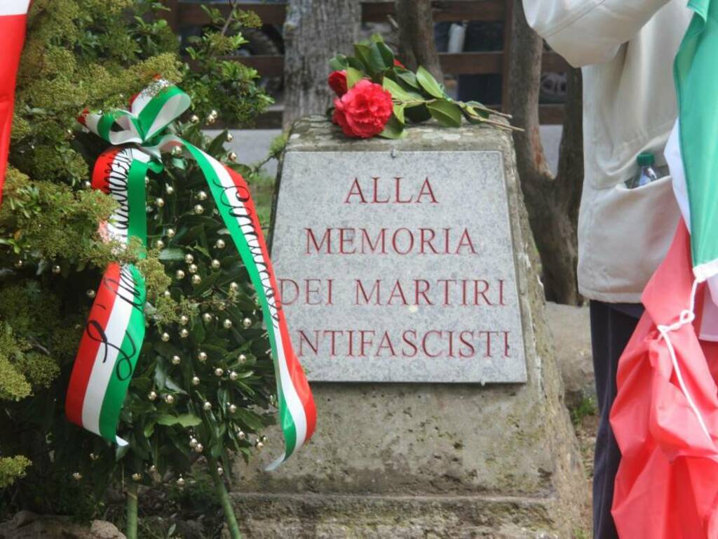
[[[302,366],[292,349],[284,311],[279,305],[274,270],[246,181],[193,144],[165,132],[189,106],[186,93],[167,81],[158,80],[133,99],[129,111],[83,114],[80,122],[85,127],[111,144],[120,145],[108,149],[96,162],[93,188],[110,194],[119,205],[104,226],[108,237],[126,244],[134,236],[146,244],[144,176],[148,168],[160,170],[162,152],[177,147],[199,165],[220,217],[257,290],[269,334],[285,440],[284,455],[269,466],[274,469],[312,437],[317,411]],[[129,303],[122,302],[123,298],[129,298],[133,305],[144,305],[141,275],[134,267],[111,264],[90,311],[67,395],[67,416],[73,423],[108,440],[117,439],[118,443],[123,443],[116,438],[120,407],[113,399],[119,393],[118,388],[122,389],[122,398],[127,390],[118,377],[128,370],[131,374],[143,336],[134,326],[136,309],[128,310],[126,304]],[[122,310],[113,318],[115,305]],[[144,334],[144,315],[141,322]],[[111,362],[112,369],[106,366]],[[109,377],[107,372],[111,372]],[[127,380],[129,384],[129,377]]]

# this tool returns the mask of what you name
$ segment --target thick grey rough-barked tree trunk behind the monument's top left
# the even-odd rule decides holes
[[[289,0],[284,23],[284,127],[308,114],[324,114],[334,95],[329,60],[350,54],[357,41],[357,0]]]

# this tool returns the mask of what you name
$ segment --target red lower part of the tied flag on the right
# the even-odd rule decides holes
[[[612,515],[621,538],[718,537],[718,343],[699,341],[693,314],[706,293],[694,282],[681,221],[619,361]]]

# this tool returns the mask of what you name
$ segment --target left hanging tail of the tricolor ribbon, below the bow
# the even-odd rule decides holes
[[[109,221],[101,224],[107,241],[126,246],[136,237],[146,246],[144,178],[150,166],[149,155],[133,147],[107,149],[95,162],[93,188],[118,203]],[[144,340],[145,295],[136,267],[108,266],[85,325],[65,402],[70,421],[121,446],[127,443],[116,436],[117,423]]]

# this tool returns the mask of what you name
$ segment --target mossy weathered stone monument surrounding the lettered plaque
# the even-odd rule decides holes
[[[423,126],[400,141],[348,141],[325,119],[310,119],[295,126],[284,166],[300,152],[368,152],[370,160],[374,152],[395,149],[503,156],[526,383],[312,383],[319,414],[312,443],[267,473],[264,465],[282,450],[279,434],[270,433],[261,457],[234,471],[246,533],[571,538],[587,492],[544,319],[510,135]]]

